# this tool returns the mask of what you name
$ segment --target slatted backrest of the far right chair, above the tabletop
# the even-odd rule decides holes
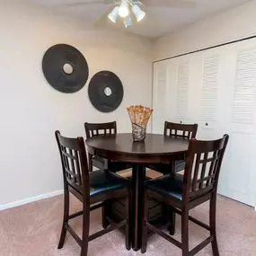
[[[190,139],[196,137],[197,131],[197,124],[177,124],[165,121],[163,134],[169,137],[184,137]]]

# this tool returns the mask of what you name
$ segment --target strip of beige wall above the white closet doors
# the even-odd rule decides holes
[[[219,13],[154,41],[154,60],[256,34],[256,1]]]

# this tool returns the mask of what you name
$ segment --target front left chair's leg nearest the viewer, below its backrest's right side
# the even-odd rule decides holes
[[[90,232],[90,205],[84,204],[81,256],[87,256]]]

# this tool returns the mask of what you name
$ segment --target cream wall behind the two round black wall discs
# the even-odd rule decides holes
[[[56,129],[66,136],[84,136],[84,121],[116,119],[119,131],[130,130],[126,107],[151,104],[152,45],[115,33],[83,31],[45,9],[9,0],[0,0],[0,23],[1,206],[62,189]],[[88,82],[74,94],[49,86],[41,60],[57,43],[71,44],[84,54],[89,80],[102,69],[119,75],[125,94],[118,110],[94,110]]]

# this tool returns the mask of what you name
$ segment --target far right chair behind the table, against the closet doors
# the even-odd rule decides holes
[[[197,136],[197,131],[198,124],[181,124],[165,121],[163,135],[165,137],[190,139]],[[151,164],[148,167],[155,171],[163,172],[163,174],[169,174],[172,169],[172,172],[181,172],[185,168],[185,155],[181,155],[181,158],[173,161],[173,163],[157,163]]]

